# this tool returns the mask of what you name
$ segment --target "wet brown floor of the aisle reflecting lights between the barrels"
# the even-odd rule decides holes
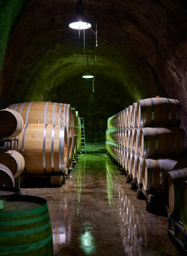
[[[54,255],[180,255],[167,218],[150,214],[106,154],[82,154],[61,188],[22,189],[47,199]]]

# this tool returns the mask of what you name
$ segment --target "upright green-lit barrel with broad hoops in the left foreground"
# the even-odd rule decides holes
[[[43,198],[18,196],[4,201],[0,230],[1,255],[53,255],[49,211]]]

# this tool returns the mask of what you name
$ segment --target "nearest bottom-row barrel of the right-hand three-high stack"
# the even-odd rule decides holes
[[[167,172],[186,167],[186,160],[144,159],[142,165],[142,183],[146,191],[163,192],[164,178]]]

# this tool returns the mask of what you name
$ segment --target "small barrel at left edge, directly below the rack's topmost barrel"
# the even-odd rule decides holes
[[[17,178],[22,173],[25,166],[24,157],[22,154],[15,150],[9,150],[1,153],[0,163],[10,169],[14,178]]]

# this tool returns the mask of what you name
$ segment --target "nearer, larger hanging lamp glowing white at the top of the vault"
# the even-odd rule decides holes
[[[84,30],[91,27],[91,24],[88,22],[84,14],[84,4],[82,0],[76,3],[76,16],[74,21],[69,24],[70,28]]]

